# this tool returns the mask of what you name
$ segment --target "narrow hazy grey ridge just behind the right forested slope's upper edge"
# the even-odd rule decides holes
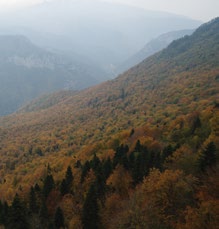
[[[180,30],[160,35],[159,37],[149,41],[143,49],[141,49],[135,55],[119,65],[116,69],[117,72],[122,73],[128,70],[129,68],[146,59],[147,57],[166,48],[173,40],[177,40],[185,35],[191,35],[193,32],[194,30]]]

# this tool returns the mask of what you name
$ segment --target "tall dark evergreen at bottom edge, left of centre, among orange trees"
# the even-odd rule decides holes
[[[95,184],[91,184],[87,193],[82,212],[83,229],[98,229],[99,228],[99,207]]]

